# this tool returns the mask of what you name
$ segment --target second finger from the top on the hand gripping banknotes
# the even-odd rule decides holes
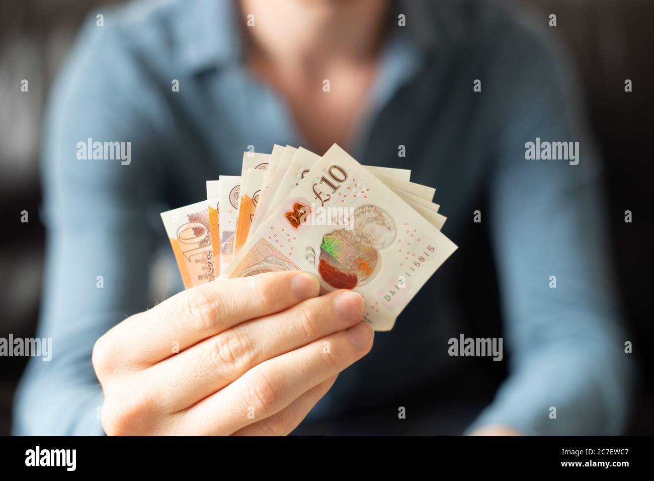
[[[283,312],[252,319],[205,339],[148,369],[148,383],[169,412],[192,406],[222,389],[253,366],[309,342],[356,325],[364,300],[334,291]],[[183,393],[170,397],[165,393]]]

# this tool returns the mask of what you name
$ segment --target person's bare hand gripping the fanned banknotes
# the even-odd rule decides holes
[[[107,435],[286,435],[366,355],[352,291],[270,272],[192,287],[95,343]],[[179,347],[179,353],[175,352]]]

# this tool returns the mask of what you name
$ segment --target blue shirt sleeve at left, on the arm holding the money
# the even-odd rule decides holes
[[[95,340],[145,310],[159,155],[148,85],[118,27],[86,21],[51,93],[45,122],[43,217],[48,232],[37,335],[52,359],[29,361],[14,400],[14,434],[102,434]],[[88,157],[120,142],[124,158]],[[129,147],[128,147],[129,145]],[[110,150],[113,147],[110,147]],[[99,152],[97,156],[100,156]],[[114,155],[115,156],[115,155]],[[148,217],[150,216],[150,217]]]

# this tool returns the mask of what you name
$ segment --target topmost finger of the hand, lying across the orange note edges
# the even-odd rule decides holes
[[[192,287],[109,330],[96,343],[94,366],[98,361],[100,370],[111,371],[153,365],[243,321],[315,297],[319,290],[315,276],[297,271],[218,279]]]

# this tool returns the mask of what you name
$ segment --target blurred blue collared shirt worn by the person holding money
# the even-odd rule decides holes
[[[606,262],[598,166],[567,69],[541,33],[493,3],[413,1],[395,11],[370,112],[345,147],[362,163],[409,168],[413,181],[435,186],[449,218],[444,232],[462,248],[311,418],[396,400],[410,406],[416,397],[438,409],[451,395],[439,379],[462,361],[448,355],[447,340],[468,334],[451,287],[481,274],[464,262],[465,245],[485,232],[509,375],[469,429],[619,433],[632,374]],[[238,22],[231,2],[209,0],[131,3],[86,20],[45,122],[38,335],[52,338],[53,357],[29,363],[14,433],[103,433],[92,347],[154,302],[150,264],[166,241],[158,214],[202,200],[207,179],[235,175],[249,145],[306,145],[284,99],[245,67]],[[525,143],[537,137],[580,141],[579,164],[526,160]],[[131,142],[129,164],[80,160],[77,144],[88,138]],[[397,408],[388,416],[397,419]]]

